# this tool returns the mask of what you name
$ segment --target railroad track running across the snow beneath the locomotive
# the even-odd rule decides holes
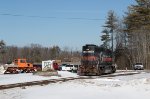
[[[16,88],[16,87],[25,88],[26,86],[34,86],[34,85],[43,86],[43,85],[47,85],[50,83],[66,82],[66,81],[76,80],[76,79],[96,79],[96,78],[103,78],[103,77],[127,76],[127,75],[139,74],[139,73],[140,72],[129,72],[129,73],[123,73],[123,74],[107,74],[107,75],[101,75],[101,76],[78,76],[78,77],[66,77],[66,78],[59,78],[59,79],[23,82],[23,83],[0,85],[0,90]]]

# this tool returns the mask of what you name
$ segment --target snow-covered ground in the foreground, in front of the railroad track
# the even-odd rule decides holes
[[[66,77],[77,76],[68,72],[60,74]],[[30,86],[25,89],[0,90],[0,99],[149,99],[149,97],[150,73],[145,72],[128,76],[78,79],[44,86]]]

